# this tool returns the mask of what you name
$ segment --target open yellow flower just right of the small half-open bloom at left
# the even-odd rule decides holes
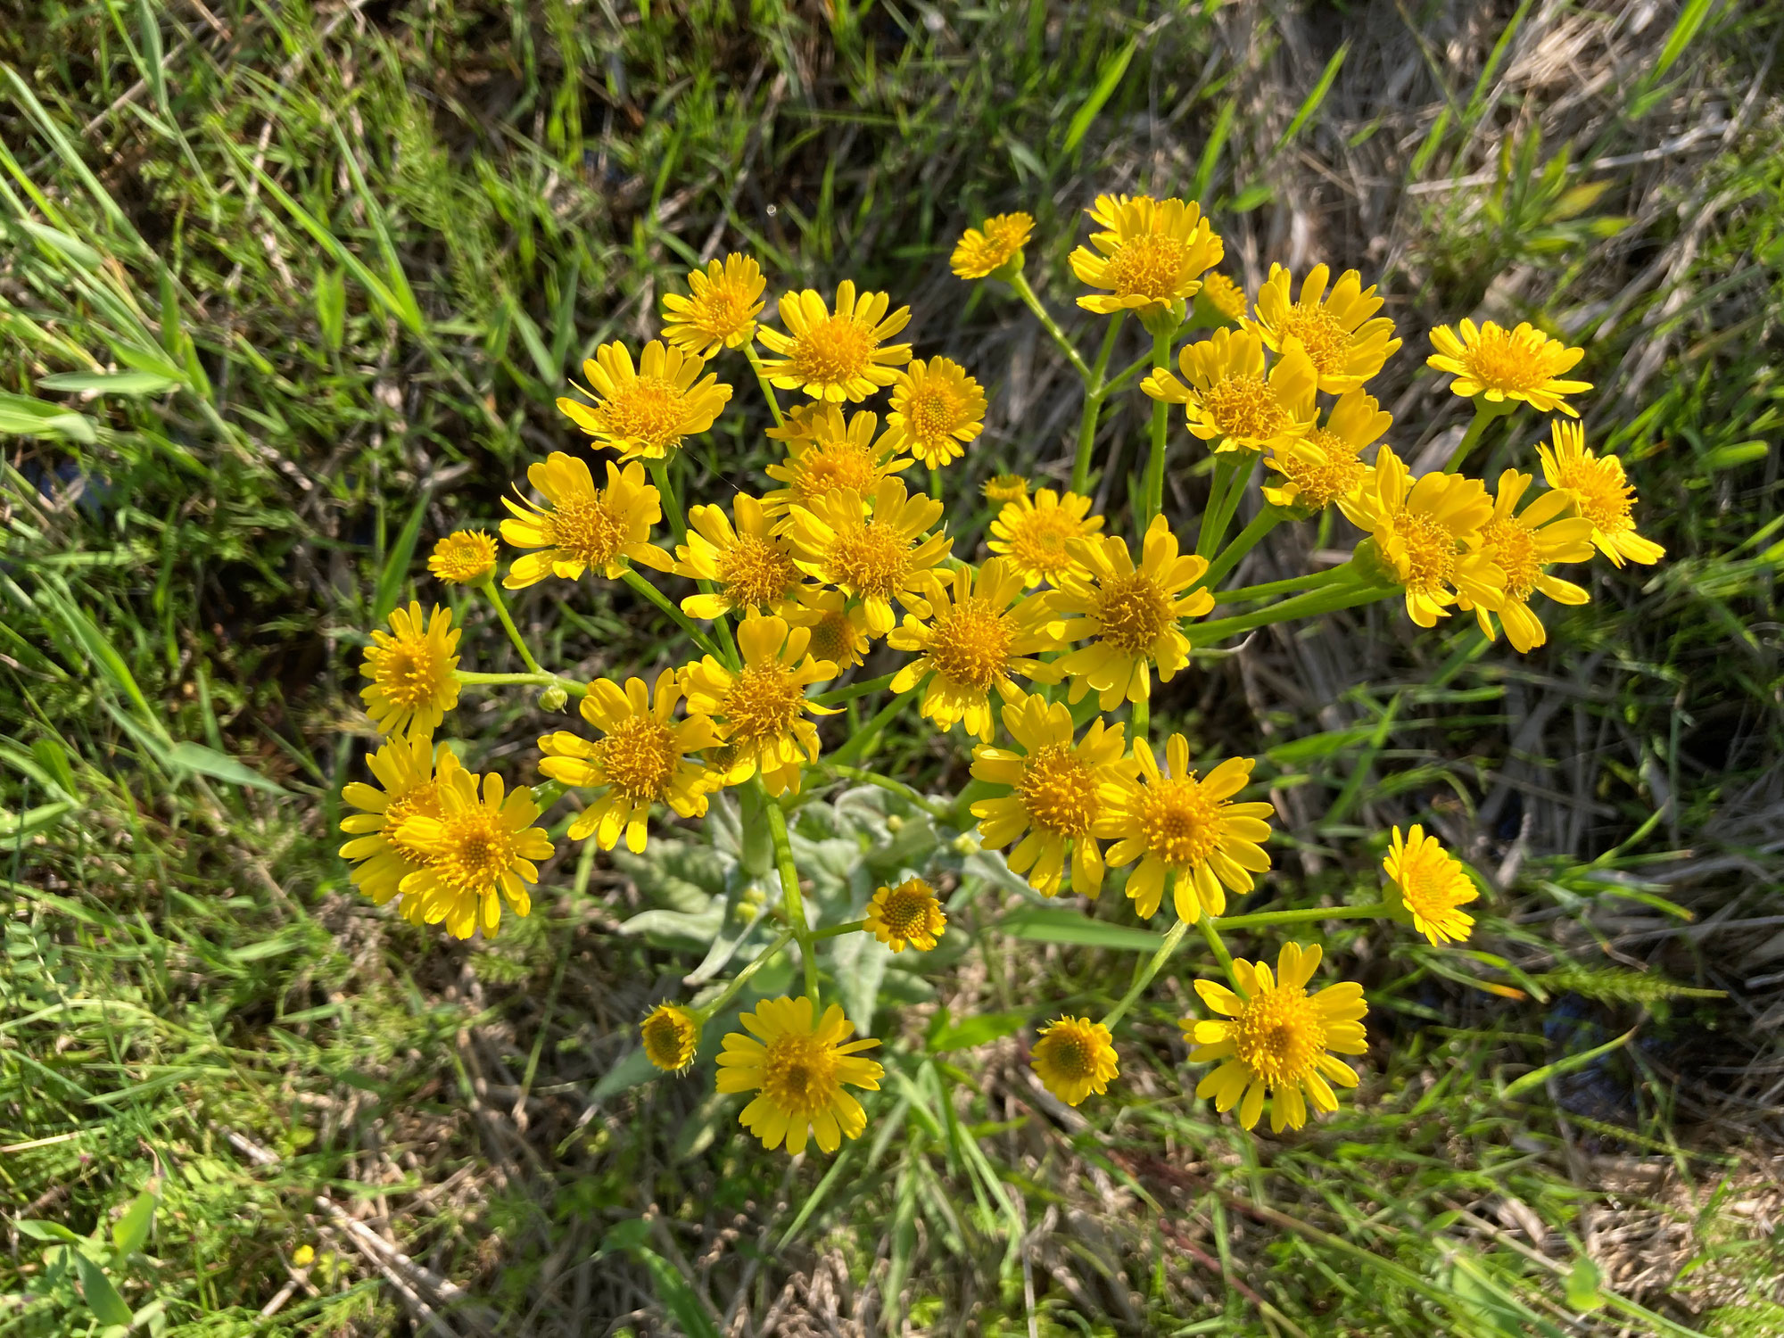
[[[544,464],[528,466],[526,480],[544,494],[546,505],[501,503],[512,519],[501,523],[501,539],[523,553],[508,567],[503,587],[519,591],[546,576],[576,580],[594,567],[608,580],[624,571],[632,558],[657,571],[669,571],[671,557],[649,542],[651,526],[662,519],[662,498],[644,482],[644,466],[633,460],[624,469],[607,462],[607,487],[594,485],[589,466],[574,455],[551,451]]]

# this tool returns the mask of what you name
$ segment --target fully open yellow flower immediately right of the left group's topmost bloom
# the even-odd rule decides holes
[[[815,289],[789,293],[780,300],[781,330],[756,330],[778,359],[762,373],[781,391],[805,391],[814,400],[865,400],[897,376],[892,368],[910,362],[910,344],[887,344],[910,323],[910,307],[890,316],[885,293],[855,294],[855,282],[837,284],[837,312]]]

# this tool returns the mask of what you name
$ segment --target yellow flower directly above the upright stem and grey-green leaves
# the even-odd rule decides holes
[[[812,683],[837,676],[835,664],[808,655],[810,644],[810,628],[789,628],[783,617],[746,617],[737,628],[740,673],[710,655],[681,671],[689,715],[708,717],[719,742],[733,749],[726,785],[740,785],[760,767],[769,794],[799,792],[801,764],[817,762],[817,726],[808,714],[837,714],[805,696]]]

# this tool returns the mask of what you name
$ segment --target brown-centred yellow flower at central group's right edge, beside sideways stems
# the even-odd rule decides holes
[[[1072,701],[1090,689],[1097,690],[1103,710],[1145,701],[1154,665],[1158,681],[1169,683],[1190,662],[1190,639],[1177,624],[1215,607],[1208,591],[1185,594],[1208,571],[1208,560],[1193,553],[1179,557],[1177,537],[1163,516],[1147,526],[1138,567],[1120,535],[1079,539],[1074,551],[1088,574],[1060,576],[1049,603],[1054,614],[1074,614],[1061,628],[1063,639],[1090,644],[1054,662],[1054,669],[1072,680]]]

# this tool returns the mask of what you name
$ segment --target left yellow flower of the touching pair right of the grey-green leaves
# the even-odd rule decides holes
[[[1010,787],[1008,794],[972,805],[979,844],[995,851],[1022,837],[1010,853],[1010,869],[1026,872],[1029,887],[1047,897],[1060,894],[1070,846],[1072,890],[1094,897],[1103,890],[1097,842],[1120,835],[1113,814],[1133,776],[1124,726],[1097,719],[1074,744],[1072,712],[1038,692],[1006,706],[1003,726],[1020,751],[988,744],[972,749],[972,780]]]

